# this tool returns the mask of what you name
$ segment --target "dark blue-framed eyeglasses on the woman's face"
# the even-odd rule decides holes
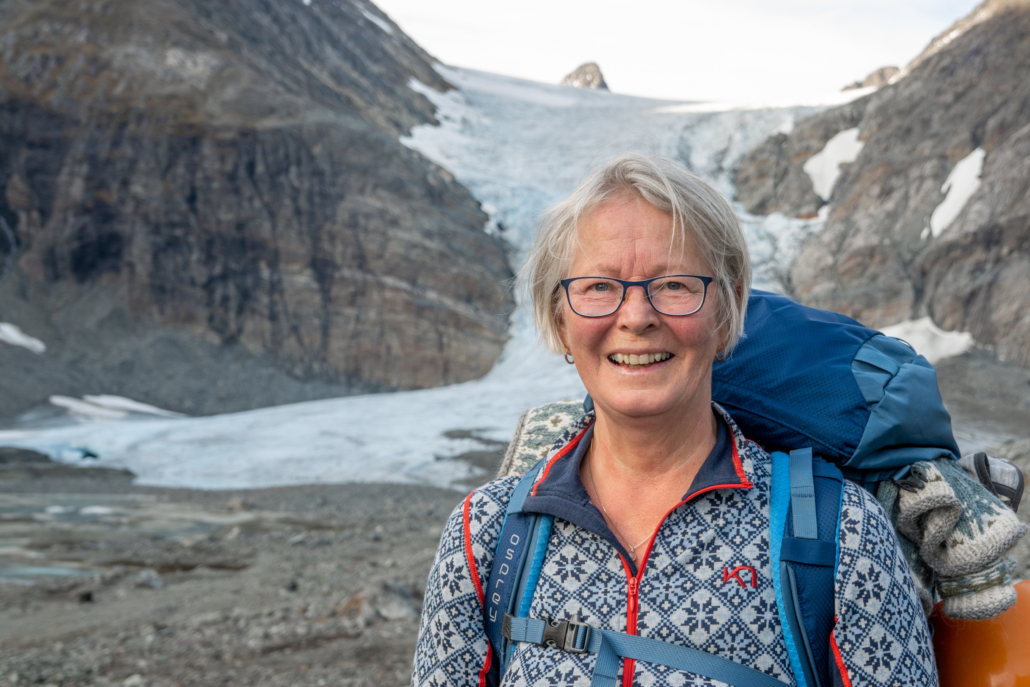
[[[581,317],[607,317],[626,300],[626,289],[641,286],[651,307],[663,315],[692,315],[705,305],[713,277],[693,274],[670,274],[641,281],[611,277],[572,277],[562,279],[569,306]]]

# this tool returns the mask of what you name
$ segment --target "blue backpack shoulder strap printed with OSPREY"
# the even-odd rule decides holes
[[[505,618],[525,617],[528,613],[554,522],[550,515],[522,512],[522,504],[545,463],[546,459],[530,468],[512,492],[486,587],[483,620],[502,676],[511,654],[510,642],[502,631]]]

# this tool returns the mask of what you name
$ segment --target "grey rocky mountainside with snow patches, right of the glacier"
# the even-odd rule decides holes
[[[1027,74],[1030,1],[987,0],[902,78],[753,150],[739,199],[810,216],[824,200],[805,164],[850,130],[861,143],[791,267],[794,295],[873,327],[930,315],[1030,365]]]

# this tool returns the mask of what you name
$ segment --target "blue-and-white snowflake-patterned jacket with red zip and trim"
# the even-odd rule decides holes
[[[523,511],[555,516],[530,617],[571,619],[718,654],[796,684],[769,559],[771,458],[722,416],[716,447],[652,537],[640,568],[590,503],[579,467],[592,415],[555,444]],[[517,477],[472,492],[444,529],[425,588],[412,685],[496,685],[484,587]],[[747,566],[751,570],[747,570]],[[751,571],[754,572],[751,572]],[[736,571],[736,574],[733,574]],[[846,482],[829,638],[834,685],[936,685],[927,623],[880,504]],[[587,687],[595,654],[518,644],[503,685]],[[722,685],[623,659],[623,687]]]

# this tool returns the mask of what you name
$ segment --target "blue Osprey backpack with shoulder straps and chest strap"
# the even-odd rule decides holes
[[[904,342],[783,296],[752,291],[745,337],[715,364],[713,399],[772,455],[770,557],[795,680],[829,687],[837,526],[845,478],[876,493],[917,461],[959,457],[936,373]],[[585,410],[593,404],[587,397]],[[818,453],[818,457],[814,455]],[[730,685],[782,687],[764,673],[658,640],[528,617],[553,517],[522,504],[547,458],[512,493],[490,571],[484,617],[503,677],[514,645],[596,653],[591,685],[615,687],[619,658]]]

